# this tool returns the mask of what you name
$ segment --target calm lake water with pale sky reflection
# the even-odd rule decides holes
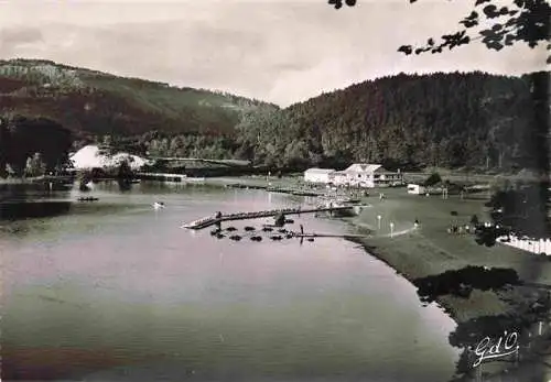
[[[90,195],[100,200],[88,204],[74,201],[78,192],[2,195],[6,380],[430,382],[453,374],[455,324],[422,307],[413,286],[356,244],[234,242],[180,228],[217,210],[302,198],[147,184],[125,193],[98,186]],[[47,216],[31,208],[22,215],[32,218],[15,219],[7,201],[18,198],[44,201]],[[158,199],[165,209],[153,210]],[[296,230],[348,229],[293,219]],[[263,221],[234,226],[242,232]]]

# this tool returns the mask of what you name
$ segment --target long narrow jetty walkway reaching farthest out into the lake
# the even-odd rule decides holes
[[[324,211],[338,211],[353,209],[354,206],[343,206],[343,207],[320,207],[320,208],[287,208],[287,209],[273,209],[267,211],[258,211],[258,212],[238,212],[238,214],[227,214],[219,216],[207,216],[205,218],[185,223],[182,228],[188,229],[203,229],[214,225],[218,225],[223,221],[233,221],[233,220],[246,220],[246,219],[259,219],[267,217],[274,217],[280,214],[283,215],[300,215],[300,214],[312,214],[312,212],[324,212]]]

